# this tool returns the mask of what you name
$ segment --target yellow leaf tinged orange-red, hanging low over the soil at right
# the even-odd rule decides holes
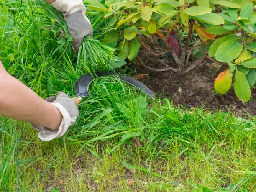
[[[233,73],[231,69],[221,72],[214,81],[214,88],[220,94],[225,94],[231,87]]]

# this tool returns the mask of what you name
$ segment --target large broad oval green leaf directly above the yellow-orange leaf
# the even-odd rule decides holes
[[[243,45],[237,40],[229,40],[221,44],[216,51],[216,60],[228,62],[236,59],[242,52]]]

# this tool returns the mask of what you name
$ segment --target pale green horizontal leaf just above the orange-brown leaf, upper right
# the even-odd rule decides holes
[[[195,20],[212,25],[222,25],[225,23],[224,19],[216,13],[207,13],[205,15],[192,16]]]

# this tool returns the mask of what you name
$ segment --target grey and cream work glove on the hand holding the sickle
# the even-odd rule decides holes
[[[59,109],[63,119],[58,131],[52,131],[44,126],[32,124],[33,128],[40,131],[38,137],[42,141],[50,141],[54,138],[63,136],[67,132],[67,129],[74,125],[79,115],[78,108],[74,104],[74,101],[64,92],[60,91],[58,92],[57,97],[49,97],[46,101]]]

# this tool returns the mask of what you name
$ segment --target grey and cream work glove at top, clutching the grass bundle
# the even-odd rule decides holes
[[[79,46],[85,36],[92,36],[92,24],[85,16],[86,7],[82,0],[56,0],[51,4],[61,11],[67,22],[69,33],[73,37],[74,52],[78,52]]]

